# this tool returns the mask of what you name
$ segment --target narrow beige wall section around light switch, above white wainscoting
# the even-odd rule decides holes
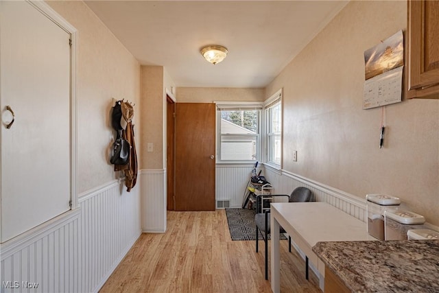
[[[141,67],[141,113],[143,149],[140,169],[163,169],[163,66]],[[147,152],[147,143],[153,143],[153,152]]]

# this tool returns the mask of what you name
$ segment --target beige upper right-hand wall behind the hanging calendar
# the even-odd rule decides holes
[[[398,196],[439,224],[439,101],[362,110],[364,51],[405,30],[405,1],[351,1],[266,88],[283,87],[283,168],[364,198]],[[298,161],[292,161],[297,150]]]

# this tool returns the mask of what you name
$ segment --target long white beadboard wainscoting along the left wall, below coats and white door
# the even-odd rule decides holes
[[[115,180],[81,194],[67,220],[2,245],[0,292],[97,292],[141,234],[139,190]]]

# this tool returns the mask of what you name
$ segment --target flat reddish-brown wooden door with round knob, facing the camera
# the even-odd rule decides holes
[[[176,211],[215,210],[215,104],[176,104]]]

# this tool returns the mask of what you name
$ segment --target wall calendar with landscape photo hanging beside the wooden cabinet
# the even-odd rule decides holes
[[[399,31],[379,45],[364,51],[365,82],[363,108],[401,102],[404,43]]]

